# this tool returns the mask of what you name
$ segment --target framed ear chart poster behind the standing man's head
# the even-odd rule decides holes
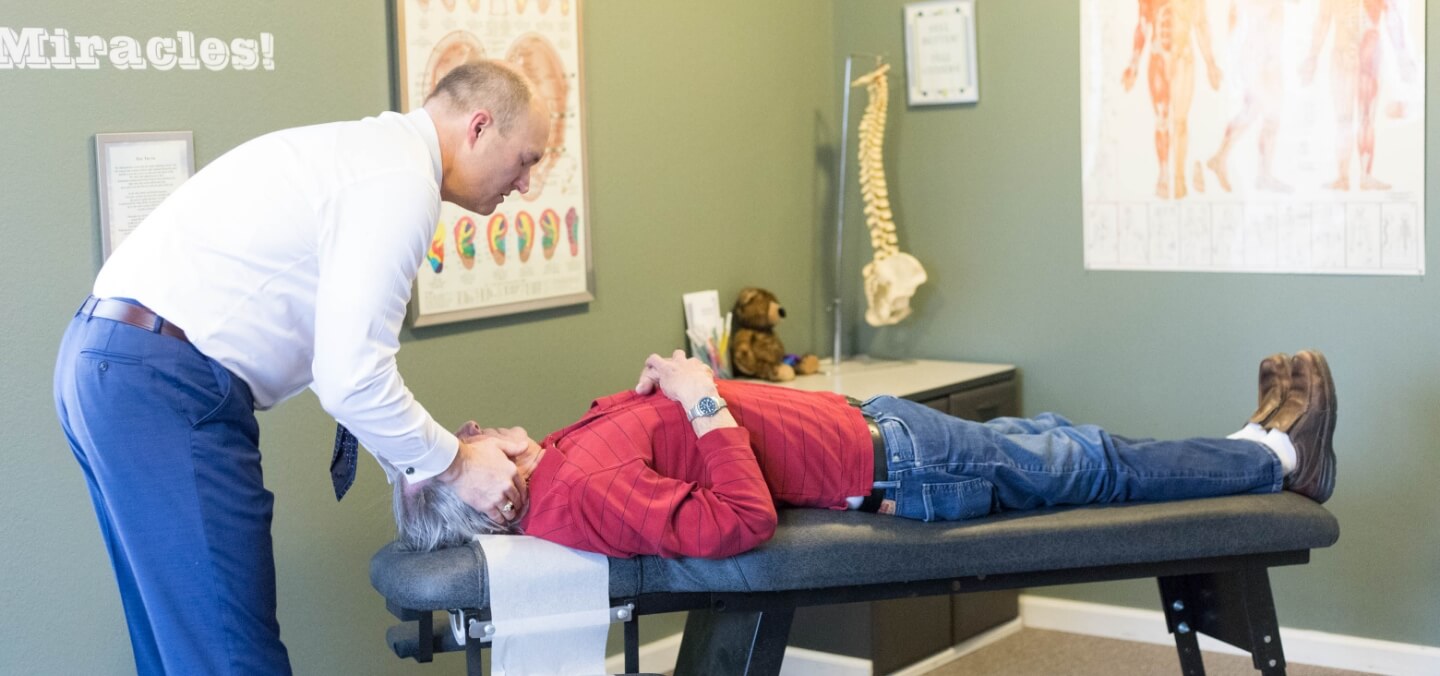
[[[397,107],[425,102],[467,61],[504,59],[550,107],[530,192],[482,216],[441,205],[410,301],[413,326],[462,321],[595,298],[585,179],[579,0],[393,0]]]

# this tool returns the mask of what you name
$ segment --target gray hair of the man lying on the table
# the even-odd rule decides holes
[[[390,470],[386,467],[386,471]],[[464,545],[477,533],[516,532],[514,526],[495,523],[467,504],[445,481],[432,479],[409,486],[405,474],[393,471],[390,476],[395,484],[395,539],[402,551],[429,552]]]

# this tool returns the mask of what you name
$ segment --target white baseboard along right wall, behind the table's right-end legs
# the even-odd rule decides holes
[[[1100,636],[1126,641],[1174,646],[1165,630],[1165,614],[1158,610],[1125,608],[1063,598],[1021,594],[1020,617],[1025,627]],[[1440,647],[1358,639],[1305,628],[1280,627],[1284,660],[1354,672],[1395,676],[1440,673]],[[1228,643],[1200,636],[1200,649],[1215,653],[1248,654]]]

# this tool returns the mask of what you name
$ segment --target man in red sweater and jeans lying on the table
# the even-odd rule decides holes
[[[1054,415],[971,422],[922,404],[716,381],[651,355],[635,391],[596,399],[536,442],[468,422],[462,438],[527,441],[528,504],[510,525],[442,481],[395,480],[400,545],[521,532],[609,556],[724,558],[768,541],[776,506],[955,520],[1056,504],[1184,500],[1335,486],[1335,386],[1319,352],[1260,363],[1260,406],[1227,438],[1129,440]]]

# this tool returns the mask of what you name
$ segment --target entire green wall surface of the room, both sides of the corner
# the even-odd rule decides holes
[[[274,72],[0,71],[10,321],[0,445],[17,473],[0,496],[0,673],[134,669],[49,393],[56,342],[99,264],[94,134],[192,130],[203,164],[269,130],[384,110],[386,4],[0,0],[10,27],[264,30],[276,40]],[[629,386],[649,352],[680,346],[678,295],[703,288],[723,298],[749,284],[772,288],[791,311],[788,346],[828,353],[840,69],[851,52],[903,63],[901,6],[585,3],[598,298],[406,332],[400,368],[420,401],[451,425],[475,417],[550,430],[590,396]],[[855,329],[845,350],[1017,363],[1027,412],[1176,437],[1234,430],[1253,406],[1260,356],[1320,347],[1344,399],[1329,503],[1344,535],[1310,565],[1273,575],[1282,621],[1440,646],[1440,356],[1427,350],[1440,334],[1440,294],[1426,278],[1083,271],[1077,55],[1077,1],[981,1],[979,104],[909,110],[896,72],[888,179],[901,242],[930,283],[913,320],[858,327],[867,242],[851,190],[845,294]],[[855,101],[858,111],[864,97]],[[261,424],[276,494],[279,620],[297,672],[454,672],[455,656],[426,669],[383,646],[390,617],[367,579],[370,553],[390,535],[382,473],[364,464],[336,504],[331,421],[314,396]],[[1146,582],[1038,592],[1145,608],[1156,598]]]

